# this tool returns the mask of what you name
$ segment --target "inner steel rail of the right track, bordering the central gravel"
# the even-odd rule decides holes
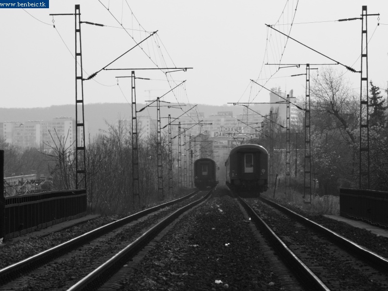
[[[291,271],[298,277],[302,285],[307,290],[330,291],[330,289],[303,263],[288,246],[275,234],[275,232],[268,226],[264,220],[253,210],[239,195],[237,195],[240,203],[244,209],[249,213],[251,219],[263,230],[265,235],[273,243],[277,251],[286,258],[286,263]],[[261,197],[260,197],[261,199]]]

